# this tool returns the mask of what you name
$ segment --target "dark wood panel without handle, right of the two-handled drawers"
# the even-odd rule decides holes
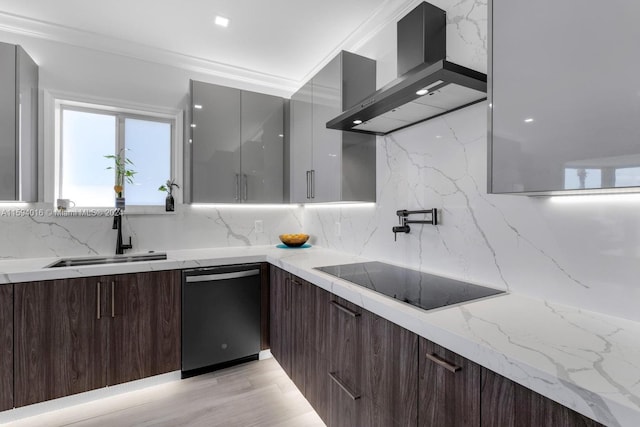
[[[418,336],[367,311],[362,323],[362,425],[417,425]]]

